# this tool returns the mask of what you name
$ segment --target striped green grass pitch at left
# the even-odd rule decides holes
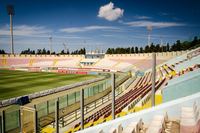
[[[0,100],[96,78],[94,75],[24,72],[0,69]]]

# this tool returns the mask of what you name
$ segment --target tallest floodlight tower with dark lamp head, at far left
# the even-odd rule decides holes
[[[13,15],[15,14],[14,6],[7,5],[7,12],[10,16],[10,38],[11,38],[11,54],[14,54],[14,44],[13,44]]]

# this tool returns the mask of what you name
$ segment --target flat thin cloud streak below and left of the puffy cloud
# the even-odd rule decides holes
[[[119,28],[113,26],[86,26],[86,27],[72,27],[72,28],[63,28],[60,29],[60,32],[67,32],[67,33],[76,33],[76,32],[86,32],[92,30],[117,30]]]

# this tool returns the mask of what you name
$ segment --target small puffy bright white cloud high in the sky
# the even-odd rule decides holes
[[[124,13],[123,9],[115,8],[114,4],[110,2],[107,5],[101,6],[99,8],[98,17],[105,18],[108,21],[114,21],[122,17]]]

